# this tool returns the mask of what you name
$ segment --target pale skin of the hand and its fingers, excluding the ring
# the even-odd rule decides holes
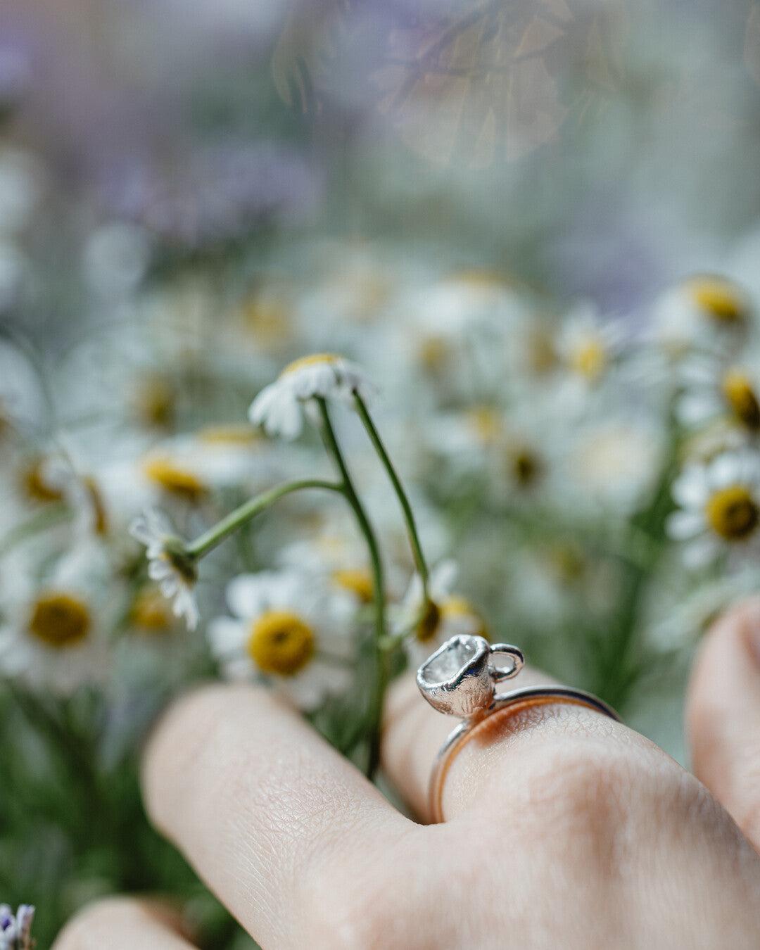
[[[420,823],[269,693],[206,687],[155,731],[145,805],[264,950],[760,946],[760,599],[695,663],[694,774],[580,707],[492,718],[448,772],[446,821],[426,826],[451,722],[410,678],[390,694],[384,764]],[[122,898],[85,908],[54,950],[104,946],[193,944]]]

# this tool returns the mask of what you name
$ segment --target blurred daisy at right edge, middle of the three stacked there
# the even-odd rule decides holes
[[[681,373],[685,387],[675,411],[684,426],[699,427],[722,417],[749,435],[760,433],[760,387],[752,371],[694,354]]]

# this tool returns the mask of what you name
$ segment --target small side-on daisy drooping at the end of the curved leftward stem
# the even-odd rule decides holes
[[[129,526],[133,538],[145,545],[148,577],[156,580],[161,594],[173,602],[176,617],[183,617],[188,630],[199,621],[195,584],[198,568],[184,551],[184,542],[158,508],[148,508]]]

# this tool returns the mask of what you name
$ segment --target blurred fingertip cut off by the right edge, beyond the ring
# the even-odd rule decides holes
[[[692,766],[760,850],[760,599],[720,618],[687,699]]]

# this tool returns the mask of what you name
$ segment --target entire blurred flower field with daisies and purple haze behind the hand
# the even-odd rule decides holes
[[[388,683],[481,634],[683,759],[760,586],[758,22],[0,10],[0,947],[120,891],[252,946],[140,801],[210,677],[382,786]]]

